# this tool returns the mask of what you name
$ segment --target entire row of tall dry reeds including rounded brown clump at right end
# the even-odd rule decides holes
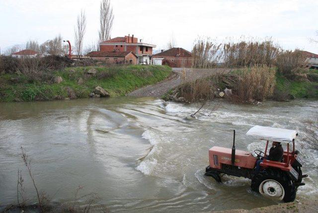
[[[223,42],[199,37],[194,42],[192,55],[193,68],[277,67],[278,72],[289,79],[300,74],[299,68],[306,66],[307,59],[299,49],[283,50],[271,38],[253,37]]]

